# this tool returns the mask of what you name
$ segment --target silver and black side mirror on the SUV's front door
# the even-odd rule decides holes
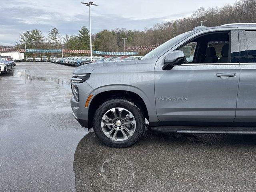
[[[163,70],[171,70],[176,65],[181,65],[184,62],[184,52],[183,51],[172,51],[167,54],[164,59]]]

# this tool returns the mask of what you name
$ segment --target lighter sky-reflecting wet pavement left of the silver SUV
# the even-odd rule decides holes
[[[86,129],[70,108],[73,70],[22,62],[0,75],[1,192],[75,191],[74,151]]]

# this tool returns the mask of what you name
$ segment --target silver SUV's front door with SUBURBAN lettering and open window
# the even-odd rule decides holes
[[[232,45],[237,37],[237,30],[205,34],[178,48],[188,64],[168,71],[156,64],[156,112],[160,121],[234,121],[240,66],[232,60],[231,49],[237,53],[238,44]]]

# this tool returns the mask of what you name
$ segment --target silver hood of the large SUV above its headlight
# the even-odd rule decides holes
[[[82,66],[79,66],[74,70],[75,74],[85,74],[91,73],[92,70],[96,67],[108,67],[108,66],[120,66],[120,65],[131,65],[136,64],[139,60],[128,60],[128,61],[108,61],[108,62],[95,62],[95,63],[88,63]]]

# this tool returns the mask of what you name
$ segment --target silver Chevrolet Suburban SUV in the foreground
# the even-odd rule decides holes
[[[256,134],[256,24],[196,27],[140,60],[92,63],[71,78],[74,117],[113,147],[146,130]]]

